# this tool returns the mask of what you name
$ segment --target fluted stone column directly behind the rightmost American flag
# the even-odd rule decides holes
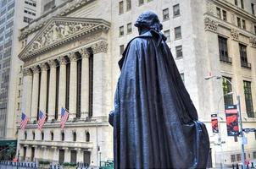
[[[59,86],[58,86],[58,120],[60,119],[61,107],[65,108],[66,98],[66,63],[64,57],[58,57],[59,63]]]

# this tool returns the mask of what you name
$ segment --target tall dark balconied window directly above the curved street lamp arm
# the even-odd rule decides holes
[[[218,39],[219,39],[220,61],[225,63],[231,63],[231,57],[228,57],[227,39],[220,35],[218,36]]]

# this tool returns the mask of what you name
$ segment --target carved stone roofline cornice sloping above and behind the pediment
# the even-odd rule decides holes
[[[43,25],[47,24],[47,21],[51,19],[53,16],[65,16],[66,14],[70,14],[70,12],[76,10],[77,8],[81,8],[82,6],[92,3],[95,0],[69,0],[65,3],[62,3],[56,8],[53,8],[51,11],[43,14],[41,17],[34,19],[31,21],[30,25],[25,26],[21,29],[21,35],[19,36],[19,40],[25,38],[27,35],[35,32],[42,28]]]

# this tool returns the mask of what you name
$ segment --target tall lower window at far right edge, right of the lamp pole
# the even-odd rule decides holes
[[[246,112],[248,114],[248,117],[254,117],[251,82],[244,80],[243,90],[244,90],[244,97],[245,97]]]

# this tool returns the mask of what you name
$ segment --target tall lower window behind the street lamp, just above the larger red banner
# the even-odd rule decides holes
[[[225,106],[233,105],[233,95],[226,95],[232,91],[232,85],[229,81],[231,81],[231,78],[228,78],[228,77],[224,77],[224,79],[222,80],[222,88],[223,88]]]

